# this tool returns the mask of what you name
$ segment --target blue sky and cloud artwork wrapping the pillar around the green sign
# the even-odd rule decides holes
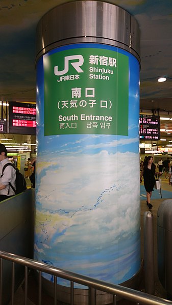
[[[45,136],[43,60],[37,65],[34,258],[114,284],[141,264],[139,64],[128,57],[128,135]]]

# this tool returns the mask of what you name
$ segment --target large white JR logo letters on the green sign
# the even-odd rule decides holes
[[[55,66],[54,67],[54,74],[57,75],[57,76],[66,74],[69,70],[69,61],[76,60],[76,59],[78,60],[78,62],[70,62],[70,64],[73,66],[73,68],[75,68],[77,70],[78,73],[84,72],[80,68],[80,66],[82,66],[83,63],[84,63],[83,56],[82,55],[71,55],[71,56],[66,56],[64,58],[64,70],[58,71],[58,66]]]

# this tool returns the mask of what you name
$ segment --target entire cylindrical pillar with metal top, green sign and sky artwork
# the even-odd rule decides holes
[[[115,284],[139,271],[139,69],[138,24],[115,5],[40,20],[35,259]]]

